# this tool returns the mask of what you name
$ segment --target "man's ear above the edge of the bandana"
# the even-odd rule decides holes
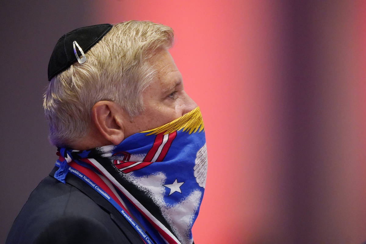
[[[123,112],[112,101],[99,101],[91,109],[91,120],[105,140],[118,145],[124,139]]]

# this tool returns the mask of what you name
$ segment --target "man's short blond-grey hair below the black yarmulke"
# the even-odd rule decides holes
[[[112,29],[78,62],[50,81],[43,107],[49,123],[49,140],[70,146],[85,136],[91,108],[113,101],[130,116],[143,111],[142,91],[156,70],[148,59],[160,48],[172,46],[171,27],[149,21],[127,21]]]

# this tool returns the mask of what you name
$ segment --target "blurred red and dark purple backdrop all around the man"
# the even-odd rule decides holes
[[[366,241],[364,1],[41,2],[0,10],[1,179],[11,189],[1,240],[56,160],[40,119],[53,45],[77,27],[137,19],[174,29],[171,54],[205,122],[195,243]],[[29,160],[14,160],[15,148]]]

